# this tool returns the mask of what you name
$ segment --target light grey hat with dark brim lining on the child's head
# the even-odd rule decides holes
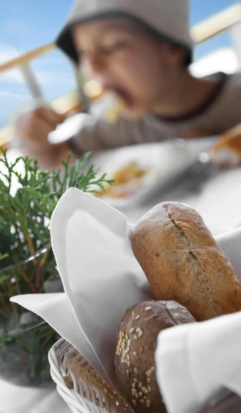
[[[107,17],[134,19],[162,39],[188,50],[191,61],[193,41],[189,34],[189,0],[76,0],[56,45],[77,63],[72,28]]]

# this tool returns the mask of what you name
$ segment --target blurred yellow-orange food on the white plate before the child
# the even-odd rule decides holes
[[[112,198],[125,198],[136,191],[143,184],[142,178],[147,174],[147,169],[140,167],[136,162],[116,169],[112,175],[115,184],[107,187],[105,191],[96,194],[98,197],[109,196]]]

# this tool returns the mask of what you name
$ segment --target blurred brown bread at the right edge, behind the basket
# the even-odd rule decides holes
[[[209,150],[211,161],[220,168],[241,165],[241,125],[224,134]]]

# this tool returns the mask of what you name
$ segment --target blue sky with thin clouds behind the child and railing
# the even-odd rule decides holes
[[[194,25],[238,2],[190,0],[190,24]],[[0,0],[0,64],[54,41],[71,6],[70,0]],[[218,48],[229,46],[229,34],[220,34],[196,47],[195,59]],[[48,100],[53,100],[75,87],[72,65],[59,51],[55,50],[32,61],[31,67],[43,95]],[[8,125],[10,115],[30,100],[30,92],[19,70],[0,74],[0,128]]]

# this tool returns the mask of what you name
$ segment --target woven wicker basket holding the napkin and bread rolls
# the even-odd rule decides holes
[[[49,352],[50,372],[59,394],[74,413],[134,413],[113,388],[64,339]]]

